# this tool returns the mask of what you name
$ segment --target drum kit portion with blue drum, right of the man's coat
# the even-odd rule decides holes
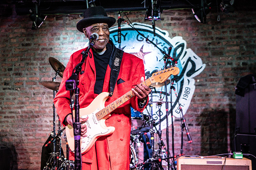
[[[167,84],[170,83],[170,80],[166,80]],[[164,83],[154,83],[150,86],[151,89],[158,88],[163,86]],[[150,98],[153,98],[152,92]],[[161,122],[161,106],[165,101],[149,101],[150,110],[152,110],[153,103],[159,109],[159,122]],[[146,109],[147,110],[147,109]],[[148,110],[147,110],[148,111]],[[167,158],[167,149],[164,145],[164,142],[161,138],[161,125],[159,125],[159,129],[156,129],[155,119],[152,117],[149,112],[148,114],[143,114],[131,107],[131,137],[130,137],[130,150],[131,150],[131,161],[130,161],[130,169],[152,169],[152,170],[162,170],[162,162],[159,159]],[[158,149],[154,149],[154,134],[158,135]],[[149,140],[150,139],[150,140]],[[144,160],[143,163],[138,164],[138,155],[136,149],[138,149],[144,143]],[[145,149],[146,147],[146,149]],[[162,147],[164,149],[162,149]],[[145,155],[147,155],[145,157]],[[141,159],[140,159],[141,160]]]

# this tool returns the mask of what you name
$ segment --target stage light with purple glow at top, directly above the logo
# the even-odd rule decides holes
[[[154,17],[154,20],[159,20],[161,19],[161,5],[157,0],[153,1],[153,10],[152,10],[152,3],[149,4],[145,19],[146,20],[152,20],[152,16]]]

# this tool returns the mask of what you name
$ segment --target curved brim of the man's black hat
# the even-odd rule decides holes
[[[100,18],[99,17],[84,18],[84,19],[81,19],[76,24],[76,28],[81,33],[84,33],[83,29],[85,27],[90,26],[92,24],[97,24],[97,23],[107,23],[108,28],[110,28],[111,26],[113,26],[116,23],[116,19],[113,17],[105,17],[105,16],[101,16]]]

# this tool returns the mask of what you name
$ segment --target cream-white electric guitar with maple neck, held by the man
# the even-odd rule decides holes
[[[178,67],[172,67],[165,70],[161,70],[154,73],[142,84],[150,86],[151,84],[156,82],[163,83],[168,77],[170,77],[171,75],[177,75],[179,74],[179,72],[180,70]],[[81,137],[80,140],[82,154],[88,152],[99,137],[107,136],[114,132],[115,127],[107,127],[105,125],[105,120],[108,117],[110,117],[110,113],[112,111],[114,111],[117,107],[120,107],[126,101],[130,100],[133,96],[135,96],[132,90],[130,90],[129,92],[125,93],[123,96],[116,99],[115,101],[113,101],[105,107],[105,101],[108,99],[108,94],[108,92],[100,93],[89,106],[79,109],[80,117],[89,117],[88,120],[84,122],[87,126],[87,137]],[[73,114],[75,115],[75,111],[73,111]],[[68,125],[65,130],[68,140],[68,146],[71,149],[71,151],[74,151],[75,140],[73,127]]]

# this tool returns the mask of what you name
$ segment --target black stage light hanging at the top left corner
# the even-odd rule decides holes
[[[29,10],[29,12],[30,12],[29,18],[31,19],[31,21],[33,21],[31,29],[34,30],[36,28],[39,28],[43,24],[47,15],[45,16],[38,12],[37,4],[36,4],[36,10],[34,12],[32,10]]]

